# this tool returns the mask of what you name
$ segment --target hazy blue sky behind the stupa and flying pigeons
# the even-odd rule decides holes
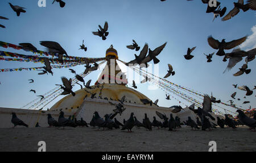
[[[19,44],[24,42],[32,43],[36,48],[44,50],[39,41],[57,41],[67,51],[70,56],[79,57],[104,57],[105,51],[111,44],[118,51],[119,59],[130,61],[134,59],[135,51],[126,48],[131,44],[132,39],[143,47],[148,43],[151,49],[168,42],[166,48],[158,56],[159,76],[164,77],[167,72],[167,64],[171,64],[176,72],[175,76],[168,78],[169,81],[181,86],[187,86],[191,89],[213,95],[222,101],[228,101],[230,95],[237,91],[237,97],[241,98],[237,105],[243,102],[244,91],[236,90],[232,84],[238,86],[247,85],[253,88],[256,85],[256,65],[255,60],[249,62],[251,73],[234,77],[238,68],[242,66],[244,60],[239,62],[230,72],[223,74],[228,62],[222,62],[222,57],[213,56],[213,62],[207,63],[203,53],[217,52],[209,47],[207,37],[212,35],[215,39],[231,41],[243,36],[251,36],[250,42],[243,45],[243,49],[255,48],[255,33],[252,28],[255,26],[255,11],[240,11],[234,18],[222,22],[217,18],[212,22],[213,14],[205,13],[207,6],[201,1],[170,1],[161,2],[160,0],[86,0],[86,1],[65,1],[66,6],[60,8],[55,2],[46,0],[46,7],[38,7],[38,1],[0,1],[0,15],[9,18],[9,20],[0,19],[0,24],[6,28],[0,28],[0,40],[7,43]],[[16,16],[8,2],[13,5],[26,7],[26,13]],[[221,6],[226,6],[228,13],[233,9],[233,1],[220,1]],[[104,26],[108,21],[109,36],[105,41],[100,37],[94,36],[92,31],[97,31],[98,24]],[[88,51],[79,49],[82,40]],[[187,53],[187,48],[195,47],[192,60],[185,60],[183,55]],[[0,47],[0,51],[17,52],[26,55],[31,53],[25,51],[15,51],[14,49],[5,49]],[[229,52],[229,51],[226,51]],[[43,66],[43,64],[0,61],[2,68],[30,68]],[[122,67],[122,66],[121,66]],[[84,71],[84,66],[74,68],[77,73]],[[22,72],[1,72],[0,73],[0,103],[1,107],[20,108],[36,98],[30,89],[37,91],[36,95],[46,93],[55,87],[55,83],[61,83],[60,77],[73,77],[68,69],[53,69],[53,77],[38,76],[37,71]],[[97,80],[98,70],[84,78],[88,81],[92,78],[92,83]],[[34,83],[28,83],[28,79],[33,78]],[[158,89],[150,91],[147,84],[137,84],[139,90],[147,95],[148,98],[155,101],[159,98],[159,105],[170,107],[177,105],[175,99],[167,101],[165,93]],[[80,89],[75,86],[73,90]],[[57,98],[46,107],[51,107]],[[255,93],[246,98],[251,103],[244,105],[244,108],[255,107]],[[190,105],[187,103],[186,105]],[[232,111],[235,111],[234,109]]]

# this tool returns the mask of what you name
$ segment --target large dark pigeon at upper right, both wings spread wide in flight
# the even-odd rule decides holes
[[[237,47],[238,45],[242,44],[247,39],[247,36],[242,37],[241,39],[233,40],[230,42],[226,42],[225,39],[222,39],[222,41],[215,40],[212,36],[208,37],[208,44],[213,49],[218,49],[218,52],[216,53],[217,56],[225,56],[224,50],[232,49],[234,47]]]

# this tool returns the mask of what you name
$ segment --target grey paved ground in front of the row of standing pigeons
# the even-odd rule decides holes
[[[182,127],[168,129],[120,129],[77,127],[0,128],[0,151],[38,151],[38,142],[46,142],[46,151],[208,151],[209,141],[216,141],[217,151],[256,151],[256,132],[240,127],[213,131],[191,131]]]

